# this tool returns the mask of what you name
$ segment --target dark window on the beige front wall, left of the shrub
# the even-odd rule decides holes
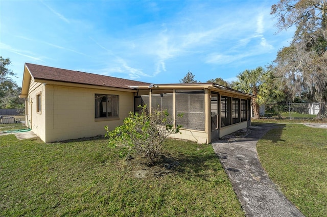
[[[118,96],[96,94],[95,118],[118,117]]]

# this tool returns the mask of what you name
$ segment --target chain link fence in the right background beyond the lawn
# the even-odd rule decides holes
[[[320,111],[321,103],[278,103],[264,106],[262,117],[281,119],[316,119]],[[327,119],[327,111],[324,110],[320,119]]]

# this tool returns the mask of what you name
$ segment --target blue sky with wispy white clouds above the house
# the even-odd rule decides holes
[[[275,3],[0,0],[0,55],[19,86],[26,62],[154,84],[188,71],[231,81],[291,42],[291,30],[275,34]]]

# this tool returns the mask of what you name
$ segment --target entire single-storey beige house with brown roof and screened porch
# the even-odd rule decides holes
[[[104,134],[139,104],[167,109],[183,126],[173,138],[210,143],[250,125],[253,96],[214,83],[149,84],[26,63],[20,97],[26,125],[45,143]]]

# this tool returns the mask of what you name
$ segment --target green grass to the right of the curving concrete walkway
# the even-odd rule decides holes
[[[327,129],[279,126],[257,144],[262,166],[303,214],[327,216]]]

